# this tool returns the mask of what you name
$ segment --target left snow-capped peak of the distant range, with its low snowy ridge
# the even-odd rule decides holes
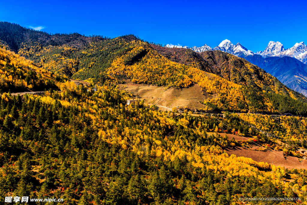
[[[188,47],[188,46],[184,46],[183,48],[187,48],[187,49],[192,49],[195,52],[204,52],[207,50],[221,50],[223,52],[227,52],[227,53],[231,53],[233,55],[239,56],[239,55],[254,55],[255,53],[248,50],[247,48],[245,48],[243,45],[241,45],[240,43],[237,43],[236,45],[233,45],[231,43],[231,41],[229,40],[224,40],[222,41],[218,46],[214,47],[213,49],[208,46],[208,45],[203,45],[201,47]]]

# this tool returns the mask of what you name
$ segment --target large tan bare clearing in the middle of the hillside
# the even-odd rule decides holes
[[[186,106],[188,108],[200,109],[204,108],[205,105],[200,104],[199,101],[216,97],[203,91],[197,84],[183,89],[169,88],[165,90],[164,86],[135,84],[130,79],[126,79],[125,84],[119,84],[119,89],[131,92],[135,96],[139,95],[141,99],[146,100],[145,103],[165,106],[167,108],[184,108]],[[201,93],[204,93],[204,95]]]

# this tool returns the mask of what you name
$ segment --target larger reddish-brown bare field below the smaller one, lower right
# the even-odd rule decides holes
[[[225,151],[228,154],[251,158],[256,162],[267,162],[268,164],[272,164],[273,162],[275,166],[281,166],[288,169],[307,169],[307,160],[302,160],[293,156],[287,156],[287,159],[285,159],[282,156],[282,151],[253,151],[241,147],[235,147],[232,149],[227,148]]]

